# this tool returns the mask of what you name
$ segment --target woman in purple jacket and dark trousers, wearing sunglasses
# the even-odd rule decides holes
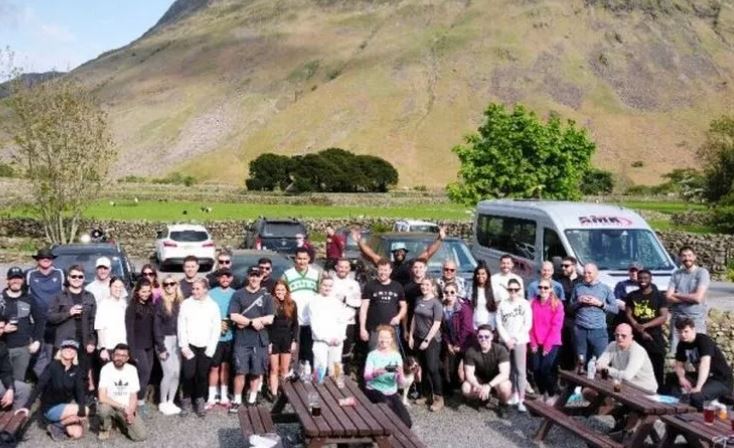
[[[459,288],[454,283],[444,286],[441,341],[443,377],[449,387],[457,389],[464,382],[461,360],[474,342],[474,319],[471,305],[459,297]]]

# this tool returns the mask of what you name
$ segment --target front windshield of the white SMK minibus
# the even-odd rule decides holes
[[[570,229],[566,238],[576,258],[601,270],[626,271],[630,263],[651,271],[674,268],[655,235],[645,229]]]

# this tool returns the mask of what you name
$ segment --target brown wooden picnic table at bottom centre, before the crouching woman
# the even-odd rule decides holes
[[[349,378],[344,378],[344,388],[337,387],[332,378],[322,384],[285,382],[283,394],[273,405],[273,421],[292,420],[283,410],[290,403],[297,420],[303,426],[308,447],[320,447],[332,443],[376,443],[388,448],[394,426],[381,408],[373,404]],[[309,392],[316,392],[321,415],[311,415]],[[355,406],[340,406],[339,399],[354,397]]]

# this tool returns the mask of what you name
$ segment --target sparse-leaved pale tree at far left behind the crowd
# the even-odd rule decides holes
[[[88,89],[66,77],[31,87],[15,83],[8,104],[14,158],[30,180],[46,238],[69,243],[117,157],[107,114]]]

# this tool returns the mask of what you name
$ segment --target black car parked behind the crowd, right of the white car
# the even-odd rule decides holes
[[[306,238],[306,226],[298,220],[259,218],[245,232],[245,248],[292,255],[298,234]]]

